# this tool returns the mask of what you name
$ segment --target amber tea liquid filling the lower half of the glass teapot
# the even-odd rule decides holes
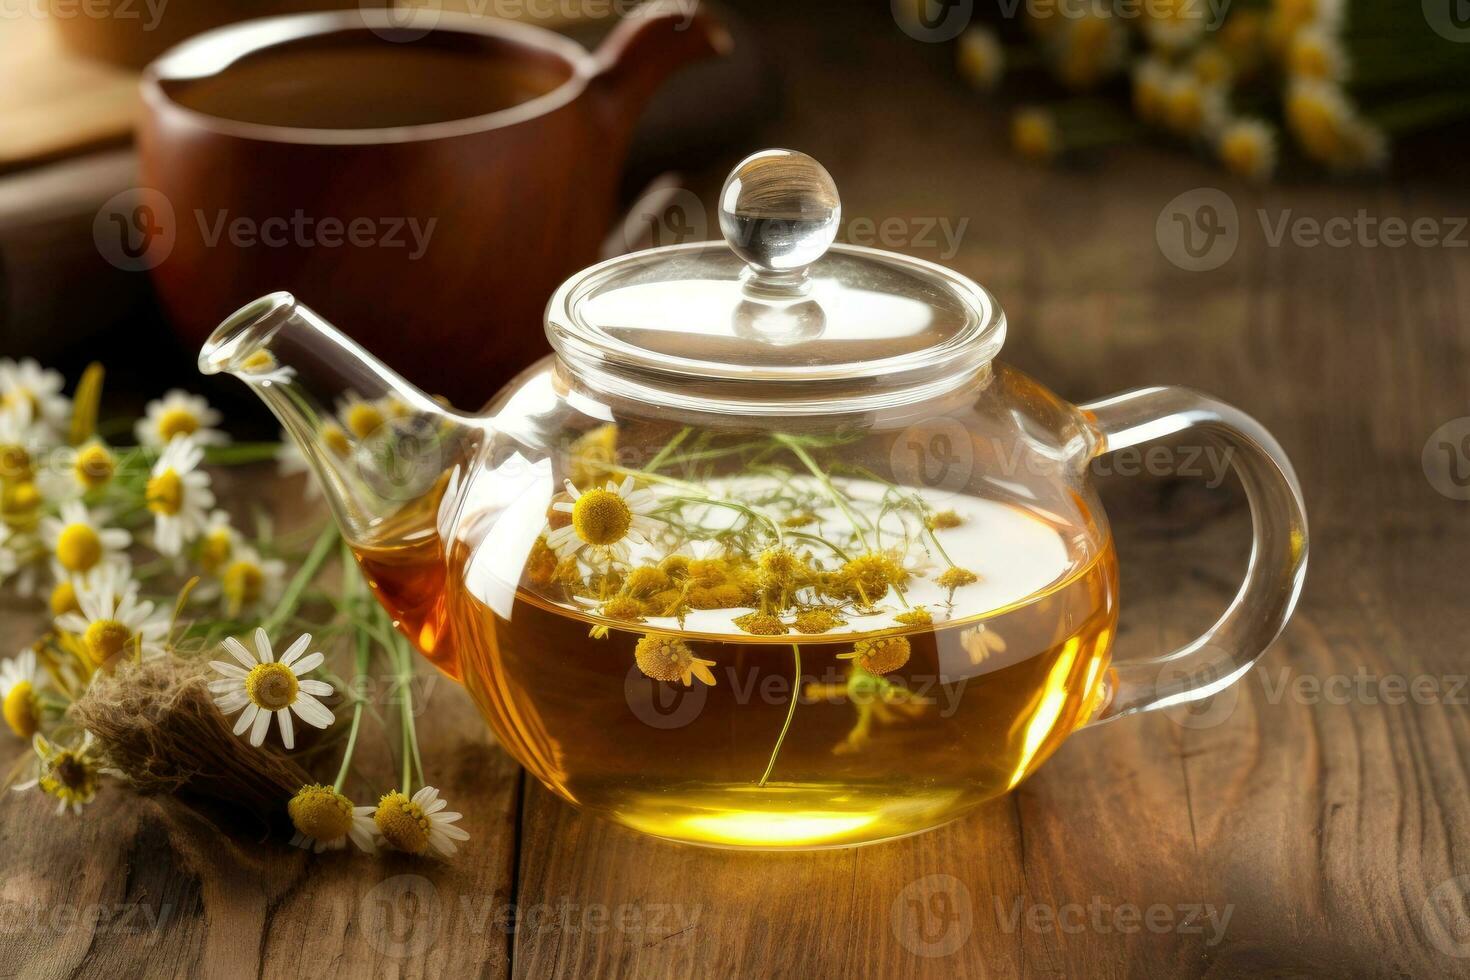
[[[1111,541],[1014,504],[957,510],[969,533],[951,557],[982,580],[923,629],[748,636],[703,613],[685,629],[616,624],[520,583],[491,595],[476,567],[491,555],[475,547],[447,563],[437,541],[359,557],[401,629],[441,666],[457,661],[506,748],[559,795],[662,837],[811,848],[914,833],[1004,793],[1101,695]],[[911,601],[936,599],[923,588]],[[642,676],[634,648],[650,629],[714,661],[716,683]],[[854,682],[838,655],[894,632],[908,661]]]

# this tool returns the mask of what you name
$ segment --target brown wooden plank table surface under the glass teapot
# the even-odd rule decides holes
[[[950,51],[870,6],[748,12],[788,84],[764,143],[823,160],[847,222],[908,222],[881,244],[989,287],[1011,323],[1003,357],[1063,395],[1188,383],[1277,435],[1311,566],[1255,670],[1205,710],[1078,733],[951,826],[808,854],[673,846],[584,817],[441,682],[422,733],[467,814],[459,860],[313,860],[118,789],[65,824],[6,799],[0,976],[1470,976],[1470,502],[1446,470],[1470,469],[1455,231],[1470,190],[1252,191],[1154,150],[1030,169]],[[691,188],[709,204],[722,176]],[[1189,272],[1157,225],[1204,187],[1236,209],[1238,245]],[[1460,245],[1269,231],[1360,210],[1432,219]],[[920,234],[944,222],[967,222],[954,254]],[[1104,500],[1123,563],[1116,652],[1150,657],[1233,595],[1244,501],[1167,476],[1108,478]]]

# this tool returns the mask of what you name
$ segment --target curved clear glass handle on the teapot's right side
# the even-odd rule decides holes
[[[1297,473],[1261,423],[1189,388],[1141,388],[1079,406],[1102,436],[1094,455],[1197,429],[1223,445],[1251,505],[1251,560],[1225,614],[1179,649],[1114,664],[1088,724],[1198,701],[1251,669],[1291,619],[1307,576],[1307,514]]]

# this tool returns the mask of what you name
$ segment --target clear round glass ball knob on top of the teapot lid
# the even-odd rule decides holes
[[[720,231],[764,285],[797,284],[836,238],[842,203],[832,175],[806,153],[761,150],[731,170]]]

